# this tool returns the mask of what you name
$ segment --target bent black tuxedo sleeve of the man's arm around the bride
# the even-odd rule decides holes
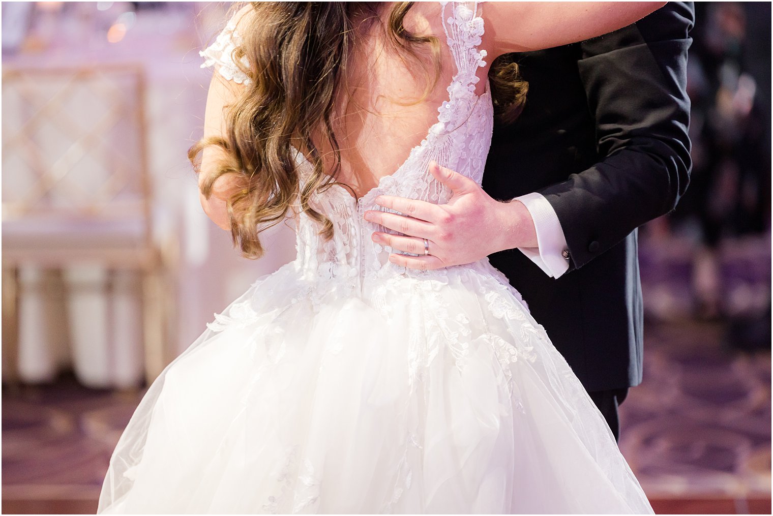
[[[604,159],[539,192],[564,229],[570,270],[676,206],[690,180],[691,2],[581,43],[577,66]]]

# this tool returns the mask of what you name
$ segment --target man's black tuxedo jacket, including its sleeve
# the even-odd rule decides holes
[[[636,228],[672,211],[689,182],[693,22],[691,2],[669,2],[606,36],[510,55],[529,93],[513,124],[495,124],[483,188],[544,195],[570,270],[553,279],[519,250],[490,260],[589,391],[642,380]]]

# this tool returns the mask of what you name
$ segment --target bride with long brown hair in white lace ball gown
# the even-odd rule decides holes
[[[191,150],[203,151],[202,203],[244,256],[261,256],[261,231],[278,223],[295,227],[298,256],[152,384],[100,513],[651,513],[506,278],[485,259],[398,266],[363,216],[383,209],[378,195],[447,202],[438,165],[481,182],[494,109],[512,114],[523,97],[516,66],[490,70],[492,58],[660,5],[237,12],[202,53],[216,66]],[[415,245],[431,255],[431,239]]]

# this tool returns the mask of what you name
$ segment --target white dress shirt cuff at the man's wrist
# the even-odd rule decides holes
[[[534,220],[537,247],[519,247],[521,253],[536,263],[550,277],[560,277],[569,270],[569,259],[564,257],[567,239],[556,211],[542,194],[532,192],[514,199],[523,202]]]

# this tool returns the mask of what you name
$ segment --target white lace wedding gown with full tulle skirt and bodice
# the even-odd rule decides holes
[[[604,419],[488,260],[421,272],[369,238],[379,194],[445,202],[431,160],[480,183],[482,18],[444,7],[457,75],[438,123],[359,202],[335,186],[325,241],[262,277],[148,390],[104,513],[651,513]],[[229,25],[203,54],[242,81]],[[301,168],[308,163],[298,154]]]

